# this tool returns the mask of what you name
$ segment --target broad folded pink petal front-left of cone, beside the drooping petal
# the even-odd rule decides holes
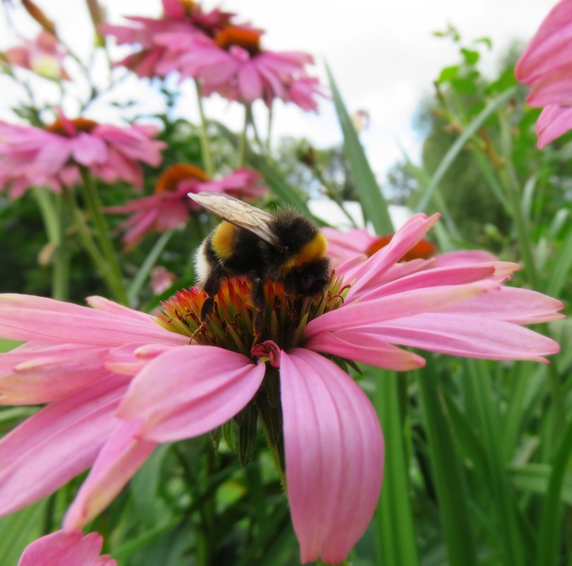
[[[195,437],[244,408],[258,391],[264,370],[263,362],[254,365],[250,358],[216,346],[174,348],[138,373],[118,415],[143,419],[141,434],[148,440]]]

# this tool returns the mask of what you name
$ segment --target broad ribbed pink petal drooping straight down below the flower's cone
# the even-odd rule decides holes
[[[379,497],[383,439],[362,389],[323,356],[282,352],[286,479],[300,560],[337,564],[364,533]]]

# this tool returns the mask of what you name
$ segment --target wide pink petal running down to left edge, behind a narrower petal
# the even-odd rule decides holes
[[[127,382],[112,375],[54,401],[0,441],[0,514],[52,493],[93,464],[117,426]]]

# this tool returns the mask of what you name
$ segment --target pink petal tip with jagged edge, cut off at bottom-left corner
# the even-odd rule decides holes
[[[97,533],[56,531],[29,544],[18,566],[117,566],[117,560],[100,555],[102,543]]]

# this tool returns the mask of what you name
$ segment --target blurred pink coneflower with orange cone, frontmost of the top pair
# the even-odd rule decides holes
[[[229,25],[215,37],[157,36],[157,42],[167,47],[158,69],[162,74],[178,71],[181,78],[198,78],[204,95],[216,92],[246,104],[262,99],[268,106],[280,98],[303,110],[316,110],[321,86],[305,70],[314,58],[303,52],[263,49],[262,34],[249,26]]]

